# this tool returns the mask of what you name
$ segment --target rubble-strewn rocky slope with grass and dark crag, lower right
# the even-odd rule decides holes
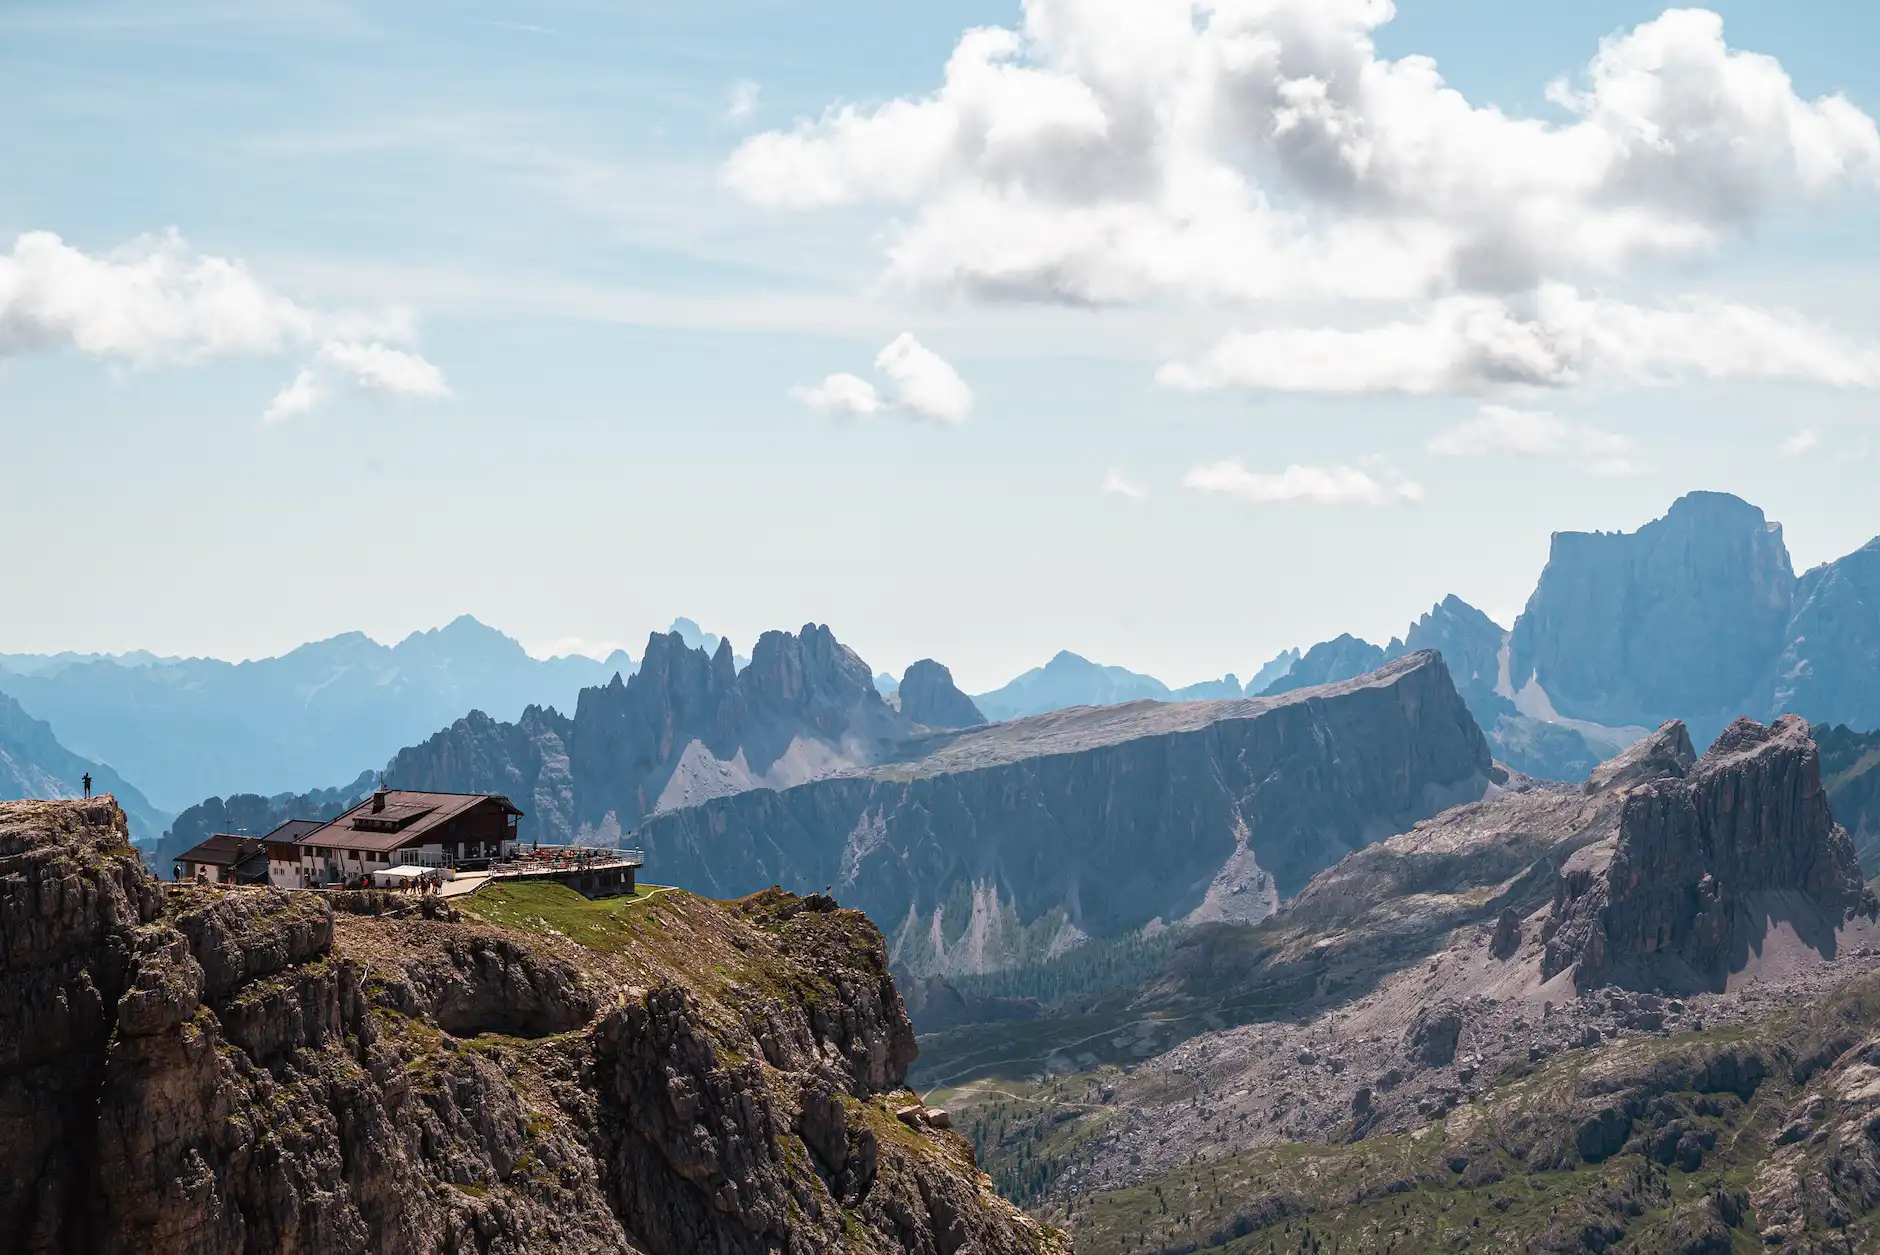
[[[1869,1249],[1874,911],[1797,720],[1703,759],[1668,723],[1147,979],[1019,1024],[953,999],[919,1077],[1087,1251]]]

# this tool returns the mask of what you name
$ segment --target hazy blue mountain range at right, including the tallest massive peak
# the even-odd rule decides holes
[[[1880,729],[1880,539],[1799,579],[1782,526],[1726,492],[1690,492],[1637,532],[1557,532],[1512,629],[1446,597],[1402,641],[1344,635],[1265,691],[1442,650],[1517,770],[1577,782],[1679,720],[1705,746],[1739,716]]]

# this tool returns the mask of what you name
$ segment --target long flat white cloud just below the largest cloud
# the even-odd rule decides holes
[[[1681,378],[1880,385],[1880,349],[1784,310],[1709,299],[1647,308],[1549,284],[1517,302],[1448,297],[1418,321],[1282,327],[1220,340],[1160,380],[1181,389],[1485,393]]]

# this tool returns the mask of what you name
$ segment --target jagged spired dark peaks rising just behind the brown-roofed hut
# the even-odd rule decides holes
[[[729,641],[707,656],[669,633],[632,678],[585,689],[572,720],[472,712],[385,774],[406,789],[504,793],[545,842],[609,842],[654,810],[876,763],[910,733],[827,628],[763,633],[744,671]]]

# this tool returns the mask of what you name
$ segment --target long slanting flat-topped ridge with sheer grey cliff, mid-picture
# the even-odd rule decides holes
[[[1263,917],[1493,770],[1448,669],[1414,654],[1280,699],[942,736],[863,774],[654,815],[637,844],[699,892],[837,885],[910,971],[987,971],[1156,919]]]

